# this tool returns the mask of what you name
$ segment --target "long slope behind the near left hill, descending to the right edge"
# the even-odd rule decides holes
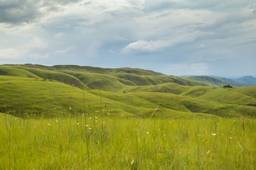
[[[92,91],[95,94],[94,91]],[[101,92],[101,96],[111,100],[118,100],[121,103],[131,106],[141,106],[154,108],[160,106],[170,110],[209,113],[221,117],[232,117],[236,115],[256,114],[256,108],[252,106],[242,106],[238,104],[221,104],[192,97],[180,96],[175,94],[154,93],[154,92],[131,92],[127,94]]]

